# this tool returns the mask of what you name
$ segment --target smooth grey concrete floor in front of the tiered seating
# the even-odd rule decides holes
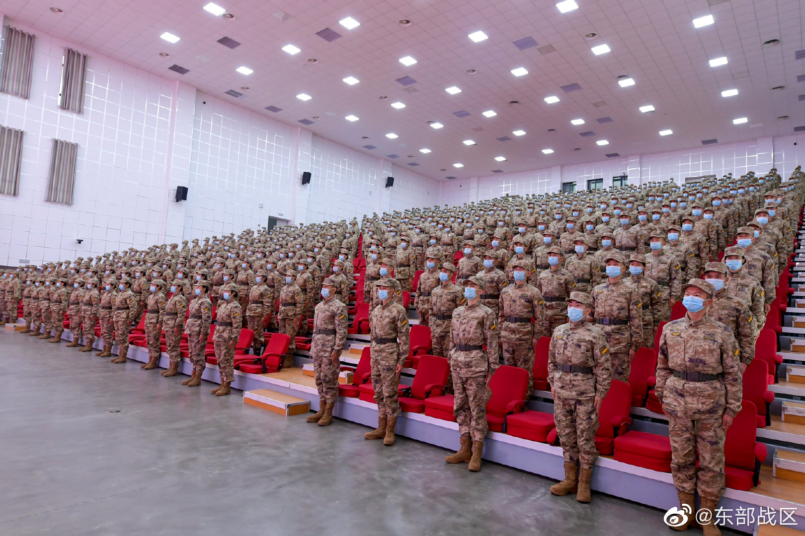
[[[657,509],[139,365],[0,329],[0,534],[671,534]]]

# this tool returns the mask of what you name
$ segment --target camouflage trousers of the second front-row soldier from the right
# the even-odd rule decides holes
[[[596,432],[598,415],[594,399],[554,398],[554,422],[559,444],[562,445],[564,461],[581,467],[592,468],[596,463]]]

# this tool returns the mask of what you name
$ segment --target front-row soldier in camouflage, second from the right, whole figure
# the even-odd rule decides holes
[[[591,500],[598,412],[612,384],[606,337],[586,320],[591,305],[589,294],[571,293],[568,323],[555,329],[548,346],[548,383],[554,397],[556,435],[564,453],[564,480],[551,486],[551,493],[576,493],[580,502]]]

